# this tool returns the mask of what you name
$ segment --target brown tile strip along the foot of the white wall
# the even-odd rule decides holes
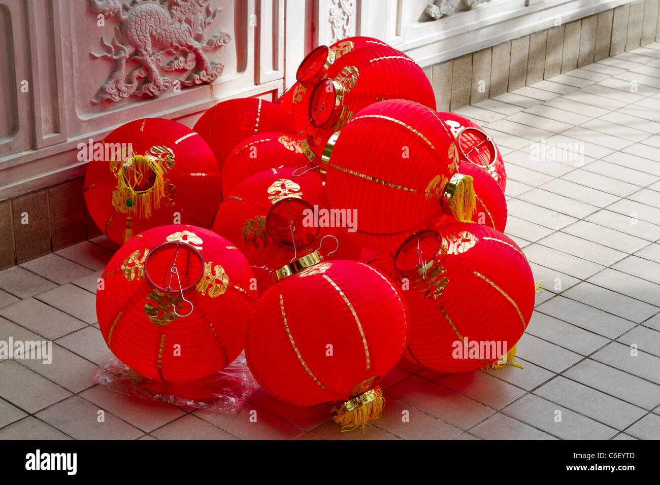
[[[659,0],[628,3],[424,72],[438,111],[457,110],[660,40],[659,17]],[[0,201],[0,270],[100,234],[84,205],[82,178]]]

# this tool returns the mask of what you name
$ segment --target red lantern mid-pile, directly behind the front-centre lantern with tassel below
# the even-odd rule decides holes
[[[294,175],[296,171],[300,176]],[[360,248],[348,245],[345,236],[339,235],[338,226],[343,222],[352,224],[352,214],[327,221],[314,218],[315,209],[329,212],[325,187],[317,173],[303,172],[294,168],[259,172],[228,193],[218,209],[213,230],[246,255],[257,276],[260,294],[273,282],[273,271],[317,249],[323,236],[339,240],[339,251],[333,257],[360,257]],[[332,251],[335,244],[326,241],[323,249]]]

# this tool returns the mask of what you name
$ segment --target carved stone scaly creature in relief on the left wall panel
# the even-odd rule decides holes
[[[216,32],[206,39],[206,29],[221,9],[211,11],[209,0],[88,0],[96,15],[116,18],[115,36],[108,44],[101,38],[103,53],[90,52],[94,58],[115,61],[113,73],[98,91],[94,103],[119,101],[129,96],[160,96],[173,86],[160,71],[189,71],[180,86],[213,82],[224,69],[209,61],[205,51],[226,46],[232,38]],[[168,57],[168,59],[166,59]],[[128,61],[138,67],[126,72]],[[185,75],[185,73],[183,74]]]

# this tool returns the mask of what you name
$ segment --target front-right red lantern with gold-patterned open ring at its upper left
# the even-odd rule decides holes
[[[392,275],[411,315],[407,350],[416,362],[437,372],[467,372],[497,366],[507,355],[512,360],[535,298],[529,263],[513,240],[487,226],[455,222],[442,227],[442,236],[411,236],[394,261]]]

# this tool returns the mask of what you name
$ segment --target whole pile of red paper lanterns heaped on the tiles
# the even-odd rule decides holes
[[[134,142],[86,179],[94,220],[127,241],[97,298],[111,350],[181,381],[246,348],[271,395],[331,403],[363,431],[402,356],[438,372],[515,365],[536,288],[502,234],[490,135],[436,112],[420,66],[377,39],[320,46],[296,77],[278,104],[220,102],[195,131],[139,120],[106,137]],[[170,212],[203,228],[159,227]]]

